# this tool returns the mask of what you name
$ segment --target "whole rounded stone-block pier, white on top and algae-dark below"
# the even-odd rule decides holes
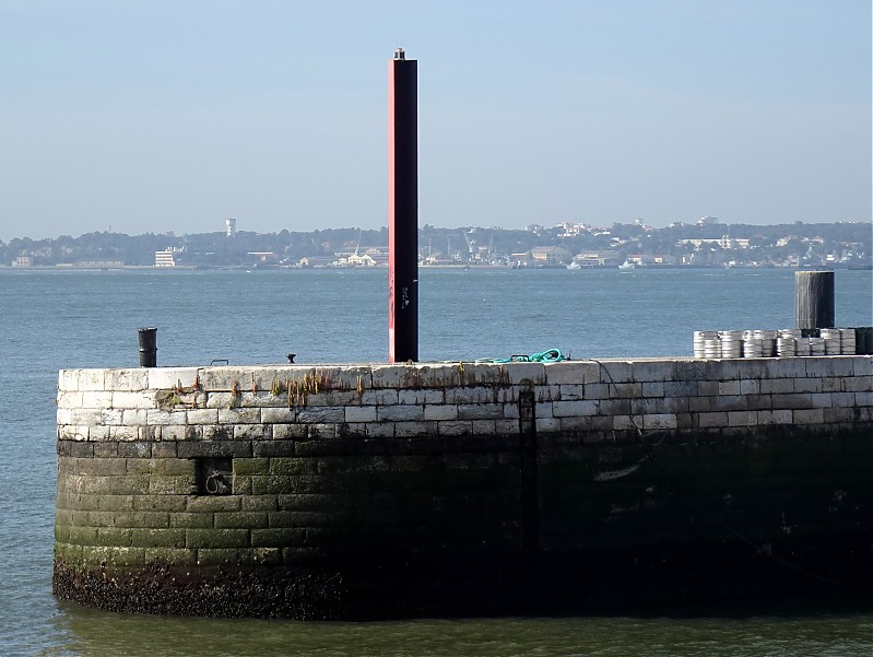
[[[374,619],[873,587],[873,357],[69,369],[54,589]]]

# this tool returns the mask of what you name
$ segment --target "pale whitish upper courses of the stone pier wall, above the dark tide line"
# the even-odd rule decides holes
[[[541,434],[845,429],[873,421],[873,357],[64,369],[58,437],[505,434],[522,391]]]

